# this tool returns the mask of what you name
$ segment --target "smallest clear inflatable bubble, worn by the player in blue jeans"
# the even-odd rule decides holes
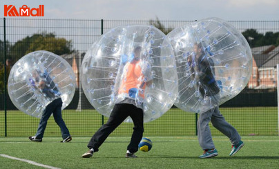
[[[8,78],[12,103],[27,115],[41,117],[46,106],[61,98],[62,109],[75,95],[75,74],[67,61],[52,52],[39,50],[19,59]]]

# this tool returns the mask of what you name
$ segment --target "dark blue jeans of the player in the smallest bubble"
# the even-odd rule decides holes
[[[68,128],[66,127],[66,124],[64,120],[62,119],[62,99],[55,99],[51,103],[46,106],[46,109],[43,112],[43,115],[41,117],[39,127],[36,133],[37,139],[42,139],[44,137],[44,132],[46,130],[46,124],[48,123],[48,119],[50,118],[50,115],[53,114],[53,117],[55,118],[55,122],[61,129],[62,138],[66,139],[66,137],[70,136],[70,132]]]

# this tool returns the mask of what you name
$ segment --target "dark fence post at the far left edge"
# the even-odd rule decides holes
[[[3,18],[3,28],[4,28],[4,111],[5,111],[5,137],[7,137],[7,86],[6,86],[6,18]]]

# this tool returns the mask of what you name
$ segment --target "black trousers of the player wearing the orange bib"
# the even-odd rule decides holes
[[[133,135],[127,147],[130,152],[137,152],[138,145],[142,139],[144,132],[144,112],[141,108],[137,108],[132,104],[119,103],[115,104],[113,111],[108,118],[108,121],[101,127],[95,135],[90,139],[88,148],[93,148],[94,152],[99,150],[99,146],[104,143],[108,135],[110,135],[117,126],[119,126],[128,116],[130,116],[134,123]]]

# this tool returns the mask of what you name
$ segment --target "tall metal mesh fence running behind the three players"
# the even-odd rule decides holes
[[[103,22],[103,24],[102,24]],[[191,21],[160,21],[165,31],[170,31],[178,26],[183,26]],[[79,65],[84,57],[84,53],[90,48],[94,41],[110,28],[121,25],[131,24],[150,24],[151,21],[127,21],[127,20],[81,20],[81,19],[4,19],[0,21],[0,41],[1,41],[1,69],[6,63],[6,69],[17,62],[20,57],[27,54],[26,43],[32,43],[34,34],[54,34],[56,38],[66,39],[70,41],[71,54],[60,54],[73,67],[77,76],[77,90],[72,103],[63,110],[64,121],[70,130],[71,135],[88,136],[92,135],[103,123],[103,117],[90,106],[84,92],[79,88]],[[238,28],[240,32],[247,29],[256,29],[260,33],[279,32],[279,21],[229,21],[233,26]],[[4,34],[6,30],[6,34]],[[10,48],[9,53],[4,57],[3,41],[6,36],[6,46],[15,46],[18,48]],[[23,41],[23,39],[25,39]],[[279,37],[278,37],[279,39]],[[40,42],[38,42],[40,43]],[[41,42],[42,43],[42,42]],[[268,48],[268,47],[266,47]],[[240,135],[278,135],[278,114],[277,114],[277,95],[276,95],[276,68],[273,64],[279,63],[276,54],[276,46],[273,46],[273,53],[258,56],[258,60],[264,57],[265,63],[260,68],[252,72],[248,86],[241,95],[238,95],[231,101],[224,103],[220,110],[224,117],[239,132]],[[8,50],[8,49],[7,49]],[[59,49],[57,49],[59,51]],[[260,52],[262,48],[255,49],[253,54]],[[268,49],[266,49],[268,50]],[[264,50],[264,51],[266,51]],[[21,56],[19,56],[21,54]],[[272,56],[271,56],[272,55]],[[275,56],[275,57],[274,57]],[[269,58],[269,60],[267,60]],[[6,62],[7,59],[10,63]],[[257,64],[256,64],[257,65]],[[8,81],[8,72],[7,72]],[[255,77],[255,78],[253,78]],[[0,75],[3,81],[3,75]],[[255,82],[254,85],[252,82]],[[263,82],[269,85],[269,88],[258,88]],[[275,86],[272,87],[275,83]],[[17,110],[9,99],[8,92],[0,90],[0,137],[26,137],[34,135],[39,119],[30,117],[23,112]],[[4,103],[6,101],[6,103]],[[6,108],[5,108],[6,104]],[[104,117],[104,122],[108,118]],[[145,123],[144,135],[159,136],[179,136],[179,135],[196,135],[197,115],[189,112],[183,112],[177,108],[171,108],[169,112],[155,121]],[[131,135],[133,131],[132,123],[122,123],[111,135],[124,136]],[[218,130],[211,127],[213,135],[222,135]],[[59,136],[59,127],[54,119],[50,117],[46,128],[45,136]]]

